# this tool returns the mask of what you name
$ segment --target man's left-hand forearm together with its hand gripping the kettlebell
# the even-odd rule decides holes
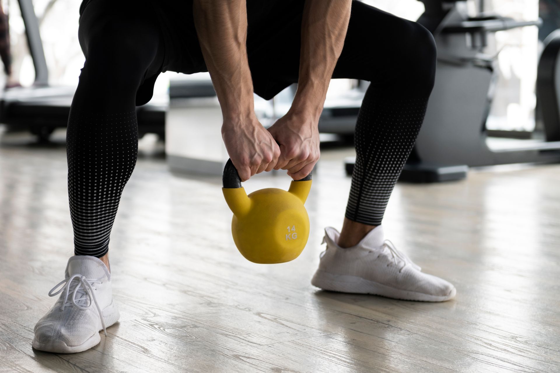
[[[280,148],[256,118],[245,0],[194,0],[194,24],[222,108],[222,138],[241,181],[270,171]]]

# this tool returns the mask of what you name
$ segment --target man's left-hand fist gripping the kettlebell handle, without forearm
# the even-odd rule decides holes
[[[254,115],[243,123],[225,121],[222,138],[241,181],[272,170],[278,162],[278,144]]]

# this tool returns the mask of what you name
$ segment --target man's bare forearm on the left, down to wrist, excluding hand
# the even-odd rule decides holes
[[[225,123],[254,116],[245,0],[195,0],[194,23]]]

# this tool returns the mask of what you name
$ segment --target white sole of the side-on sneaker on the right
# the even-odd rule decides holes
[[[338,291],[342,293],[380,295],[393,299],[412,300],[422,302],[444,302],[455,297],[456,290],[453,288],[448,295],[437,296],[417,291],[400,290],[379,282],[350,276],[348,274],[334,274],[325,271],[317,271],[311,279],[311,285],[323,290]]]

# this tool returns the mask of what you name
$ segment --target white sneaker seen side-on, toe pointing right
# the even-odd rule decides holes
[[[339,232],[325,228],[326,250],[311,284],[323,290],[382,295],[389,298],[441,302],[455,296],[451,283],[421,272],[407,255],[384,240],[382,226],[356,246],[340,248]]]

